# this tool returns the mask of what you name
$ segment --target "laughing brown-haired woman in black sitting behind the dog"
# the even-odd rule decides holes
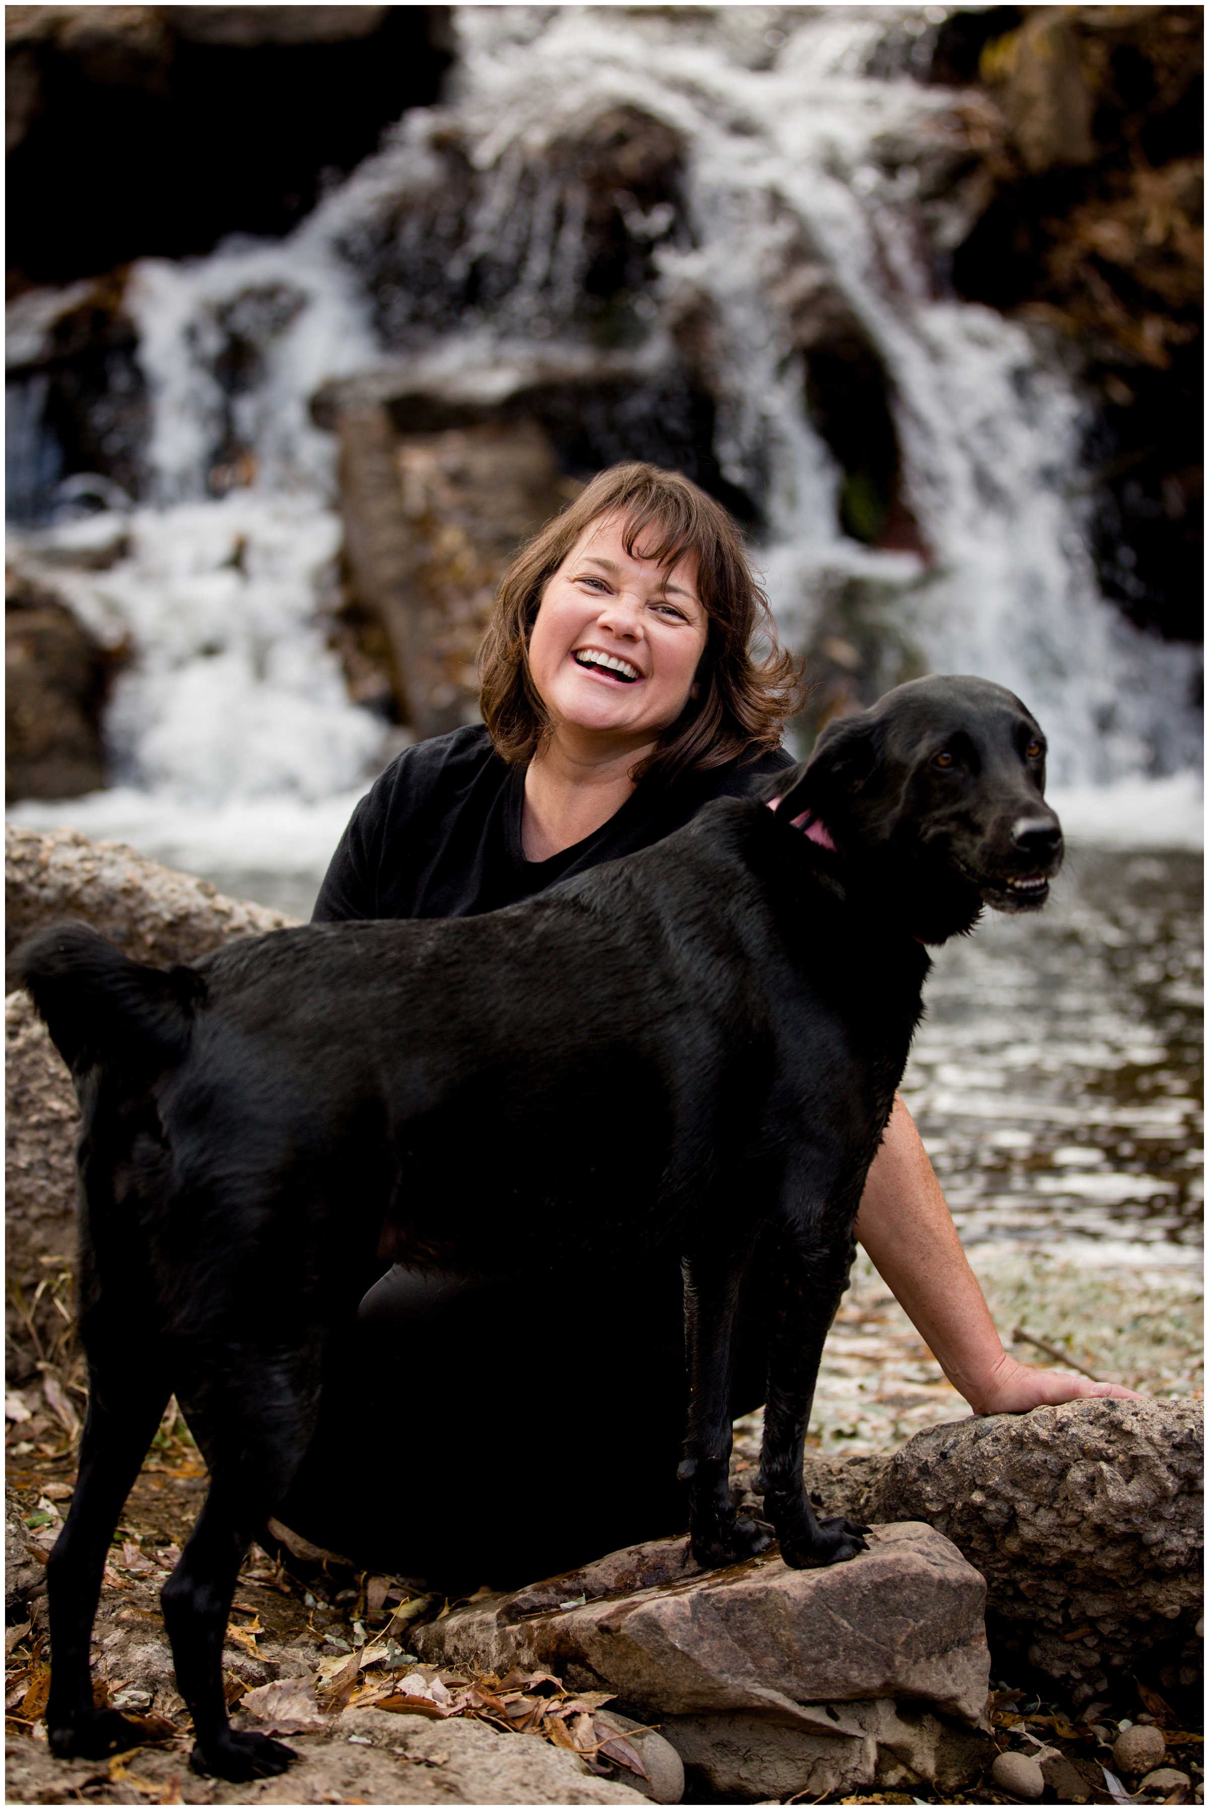
[[[771,646],[764,661],[755,637]],[[496,910],[648,847],[709,798],[767,793],[791,766],[793,704],[793,666],[729,516],[677,474],[606,471],[500,586],[483,726],[386,769],[315,918]],[[641,1111],[641,1099],[601,1100],[585,1142],[624,1138]],[[1128,1394],[1006,1356],[901,1100],[858,1236],[976,1414]],[[757,1258],[735,1414],[764,1394],[758,1300]],[[489,1283],[396,1265],[362,1303],[358,1350],[326,1390],[282,1515],[389,1569],[519,1584],[684,1524],[682,1419],[671,1256],[635,1267],[603,1253],[590,1274]],[[349,1455],[367,1464],[351,1491]]]

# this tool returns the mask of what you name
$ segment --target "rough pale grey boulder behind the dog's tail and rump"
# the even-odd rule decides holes
[[[119,842],[89,842],[72,829],[49,836],[5,831],[7,934],[20,941],[54,918],[83,918],[136,961],[192,961],[237,936],[277,930],[291,919],[262,905],[223,898],[206,880],[174,872]],[[9,1294],[7,1377],[25,1383],[63,1338],[52,1294],[65,1296],[76,1251],[76,1093],[45,1024],[25,994],[5,1003]],[[51,1280],[33,1305],[40,1281]],[[20,1312],[31,1312],[40,1347]]]

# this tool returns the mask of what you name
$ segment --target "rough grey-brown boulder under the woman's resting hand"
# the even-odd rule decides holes
[[[916,1434],[860,1511],[943,1533],[986,1578],[992,1640],[1100,1694],[1153,1647],[1200,1663],[1202,1453],[1200,1401],[1071,1401]]]

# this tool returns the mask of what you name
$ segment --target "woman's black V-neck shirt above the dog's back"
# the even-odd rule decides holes
[[[346,918],[472,918],[543,892],[681,829],[711,798],[749,798],[784,767],[784,749],[747,766],[643,780],[597,831],[548,862],[521,849],[525,769],[487,729],[454,729],[404,749],[366,793],[315,901],[313,923]]]

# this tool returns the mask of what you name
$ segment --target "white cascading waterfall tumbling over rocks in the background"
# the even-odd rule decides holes
[[[451,105],[409,114],[291,239],[136,266],[145,500],[33,536],[125,538],[109,570],[69,579],[85,619],[134,655],[107,720],[119,784],[13,814],[206,872],[322,867],[384,728],[349,702],[322,630],[340,527],[317,389],[384,358],[449,384],[469,367],[590,364],[612,337],[657,395],[699,319],[713,454],[760,523],[785,639],[809,644],[856,594],[907,650],[894,675],[977,672],[1017,690],[1093,827],[1111,800],[1100,820],[1117,840],[1180,840],[1193,657],[1097,594],[1071,355],[936,295],[928,237],[948,230],[945,208],[961,214],[943,176],[959,130],[952,90],[909,69],[938,16],[814,7],[766,31],[760,9],[460,9]],[[673,199],[614,197],[633,270],[604,319],[585,302],[592,197],[566,147],[615,110],[682,156]],[[887,373],[927,556],[840,527],[842,472],[811,424],[795,329],[814,291]]]

